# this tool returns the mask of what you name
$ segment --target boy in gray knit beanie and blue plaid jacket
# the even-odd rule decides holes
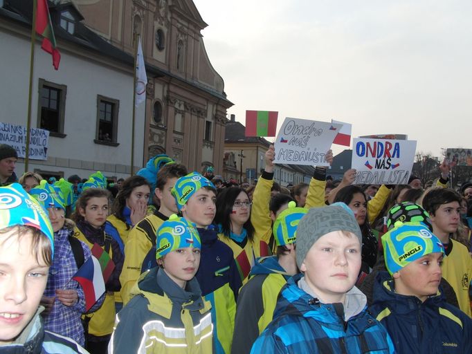
[[[362,233],[347,205],[310,209],[297,229],[302,274],[287,282],[251,353],[394,353],[356,283]]]

